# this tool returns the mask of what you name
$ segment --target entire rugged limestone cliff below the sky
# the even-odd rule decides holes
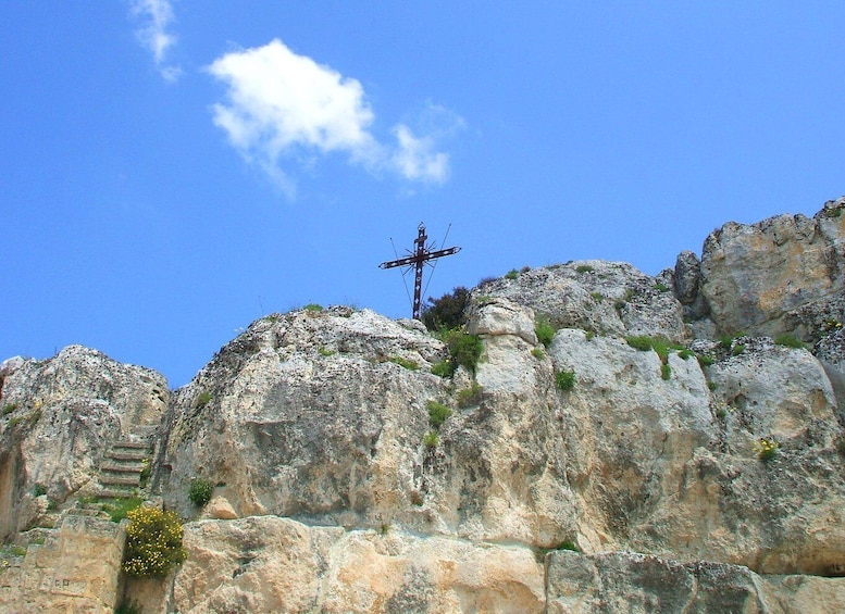
[[[175,391],[82,347],[10,359],[0,609],[842,609],[843,210],[729,223],[657,277],[487,280],[450,377],[420,323],[343,306],[252,323]],[[120,559],[101,502],[132,496],[187,519],[164,580],[84,564]]]

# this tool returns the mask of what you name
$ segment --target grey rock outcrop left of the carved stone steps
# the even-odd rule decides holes
[[[0,536],[34,519],[36,485],[64,501],[96,476],[111,441],[158,425],[170,397],[162,375],[82,346],[7,361],[0,379]]]

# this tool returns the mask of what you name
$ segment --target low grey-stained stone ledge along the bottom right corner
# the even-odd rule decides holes
[[[827,613],[845,603],[845,579],[759,576],[747,567],[630,552],[559,551],[546,561],[547,612]]]

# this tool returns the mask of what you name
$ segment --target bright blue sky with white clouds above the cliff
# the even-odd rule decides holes
[[[0,360],[176,387],[251,321],[580,259],[657,274],[845,193],[842,2],[28,2],[0,20]],[[409,288],[412,280],[408,280]]]

